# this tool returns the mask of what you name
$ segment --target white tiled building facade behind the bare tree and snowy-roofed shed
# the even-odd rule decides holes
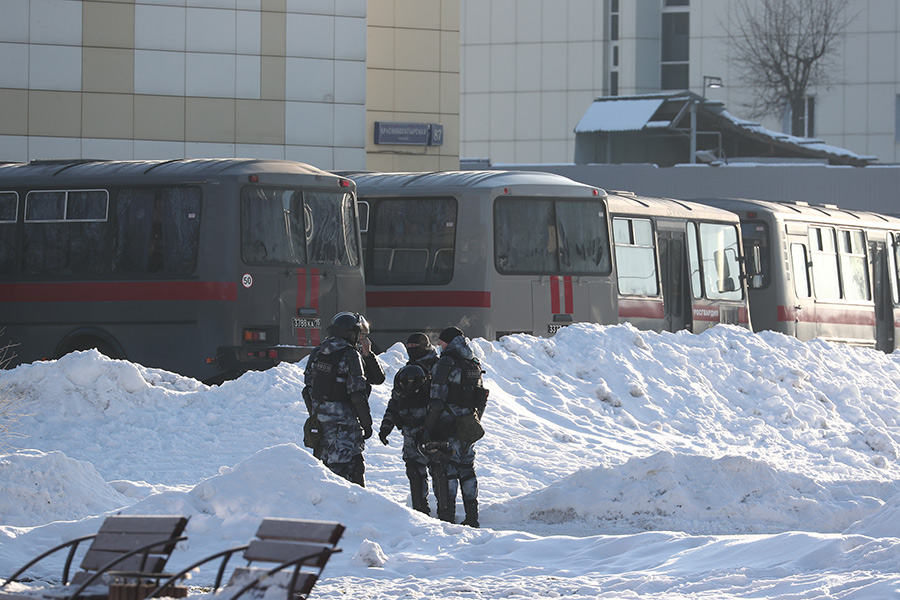
[[[461,156],[573,162],[575,125],[601,96],[689,89],[747,118],[755,90],[729,43],[741,1],[463,0]],[[900,4],[849,0],[848,11],[834,83],[810,90],[806,133],[900,162]],[[706,87],[712,77],[722,87]],[[753,120],[785,131],[785,116]]]

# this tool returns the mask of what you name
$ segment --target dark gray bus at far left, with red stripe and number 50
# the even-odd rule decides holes
[[[297,361],[364,311],[355,186],[254,159],[0,165],[13,365],[97,348],[218,382]]]

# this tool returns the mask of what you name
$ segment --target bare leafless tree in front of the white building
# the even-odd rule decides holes
[[[847,26],[848,0],[739,0],[728,28],[733,61],[750,86],[752,117],[782,116],[805,134],[809,89],[834,82],[833,55]]]

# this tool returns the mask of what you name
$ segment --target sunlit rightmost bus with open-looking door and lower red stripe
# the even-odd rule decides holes
[[[898,347],[900,219],[806,202],[698,201],[741,219],[754,329]]]

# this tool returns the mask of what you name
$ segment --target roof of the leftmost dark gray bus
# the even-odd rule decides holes
[[[311,165],[255,158],[183,158],[174,160],[35,160],[0,163],[0,181],[28,179],[106,179],[116,177],[189,178],[249,173],[290,173],[335,177]]]

